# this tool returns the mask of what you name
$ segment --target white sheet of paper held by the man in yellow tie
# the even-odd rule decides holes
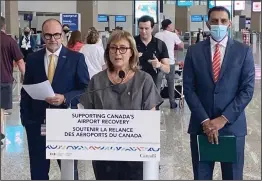
[[[25,91],[32,99],[45,100],[47,97],[54,97],[54,90],[49,82],[46,80],[38,84],[23,85]]]

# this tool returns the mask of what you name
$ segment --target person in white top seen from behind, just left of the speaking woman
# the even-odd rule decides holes
[[[92,30],[86,38],[86,45],[80,50],[84,54],[88,67],[89,77],[92,78],[98,72],[106,68],[104,60],[104,49],[97,42],[99,41],[98,31]]]

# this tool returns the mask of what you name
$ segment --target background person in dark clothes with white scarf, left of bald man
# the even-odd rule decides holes
[[[33,53],[33,50],[36,47],[36,41],[31,35],[31,30],[29,27],[24,28],[24,35],[20,38],[19,46],[26,62],[28,54]]]

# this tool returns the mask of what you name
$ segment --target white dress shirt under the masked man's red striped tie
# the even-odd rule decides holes
[[[228,42],[228,36],[226,36],[221,42],[219,42],[219,50],[220,50],[220,67],[222,66],[224,57],[225,57],[225,52],[227,48],[227,42]],[[212,55],[212,62],[214,59],[215,51],[216,51],[216,44],[217,42],[210,38],[210,46],[211,46],[211,55]]]

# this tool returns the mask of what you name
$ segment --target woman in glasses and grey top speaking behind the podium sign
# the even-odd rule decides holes
[[[138,51],[130,33],[117,30],[109,38],[107,69],[94,75],[81,97],[85,109],[155,110],[163,100],[152,77],[138,69]],[[142,180],[143,162],[93,161],[97,180]]]

